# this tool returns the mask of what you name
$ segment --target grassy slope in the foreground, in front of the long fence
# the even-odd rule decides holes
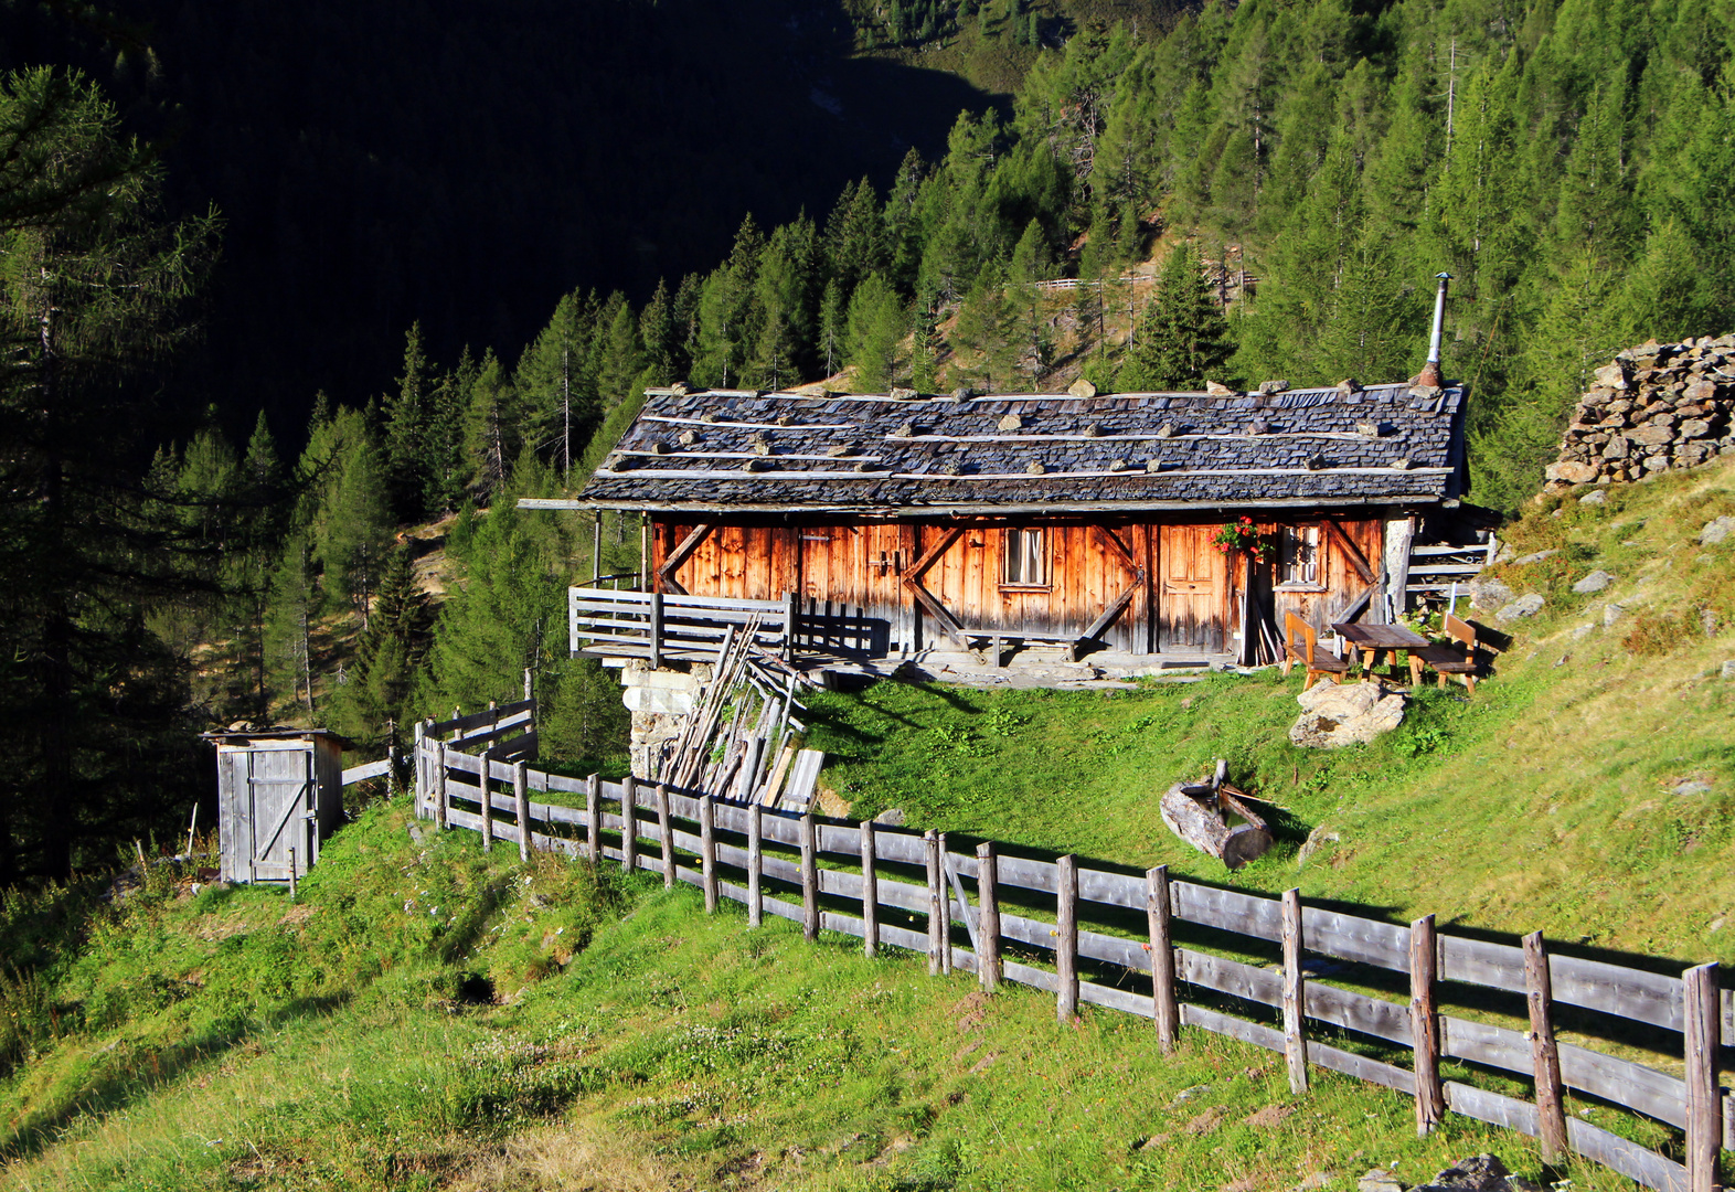
[[[1031,991],[408,826],[401,803],[364,814],[295,907],[177,897],[168,874],[118,913],[14,902],[14,954],[88,933],[36,1003],[9,987],[29,1062],[0,1086],[0,1183],[1254,1192],[1376,1163],[1416,1182],[1485,1149],[1539,1173],[1529,1142],[1463,1119],[1416,1140],[1405,1098],[1343,1077],[1291,1098],[1244,1045],[1187,1031],[1164,1058],[1123,1015],[1057,1027]],[[453,1001],[481,977],[503,1005]]]

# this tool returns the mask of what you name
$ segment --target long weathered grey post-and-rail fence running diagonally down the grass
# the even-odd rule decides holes
[[[732,899],[755,925],[776,914],[802,923],[807,939],[855,935],[869,956],[881,946],[925,953],[932,973],[972,972],[989,991],[1001,980],[1048,991],[1062,1022],[1081,1003],[1147,1017],[1162,1050],[1180,1025],[1244,1039],[1286,1057],[1296,1093],[1310,1067],[1326,1067],[1414,1097],[1421,1133],[1452,1110],[1539,1138],[1548,1161],[1577,1152],[1671,1192],[1716,1189],[1719,1150],[1735,1147],[1735,1100],[1718,1084],[1735,998],[1719,991],[1716,965],[1671,977],[1551,954],[1541,933],[1489,942],[1438,932],[1433,916],[1400,927],[1305,906],[1296,890],[1268,899],[1169,878],[1166,868],[1109,873],[994,843],[959,854],[932,831],[793,815],[630,777],[541,774],[432,736],[418,744],[416,776],[418,814],[479,831],[484,848],[507,840],[524,859],[555,848],[661,873],[668,887],[699,887],[706,911]],[[583,807],[531,802],[533,791],[581,796]],[[1214,951],[1188,946],[1201,942]],[[1359,966],[1365,986],[1391,973],[1385,984],[1407,999],[1327,984],[1320,970],[1332,961]],[[1530,1029],[1442,1012],[1447,992],[1489,998],[1476,991],[1522,998]],[[1685,1079],[1556,1041],[1562,1006],[1591,1012],[1574,1015],[1579,1034],[1631,1034],[1622,1022],[1673,1032]],[[1409,1067],[1388,1062],[1397,1048]],[[1529,1079],[1534,1097],[1442,1079],[1442,1058]],[[1568,1116],[1563,1090],[1681,1130],[1686,1161]]]

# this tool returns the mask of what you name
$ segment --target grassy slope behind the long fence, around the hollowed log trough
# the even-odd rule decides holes
[[[1548,604],[1471,701],[1426,689],[1391,736],[1334,753],[1291,746],[1300,673],[1213,677],[1140,692],[881,685],[828,696],[814,744],[859,812],[1131,866],[1168,862],[1260,890],[1388,907],[1395,918],[1542,928],[1683,961],[1735,961],[1735,543],[1700,548],[1735,510],[1735,467],[1610,489],[1600,507],[1534,507],[1496,571]],[[1614,586],[1575,595],[1593,567]],[[1603,626],[1610,599],[1626,614]],[[1714,633],[1706,633],[1706,616]],[[1589,628],[1582,628],[1589,626]],[[1157,815],[1216,756],[1279,803],[1279,848],[1237,874]],[[1709,793],[1679,796],[1681,781]],[[1341,836],[1298,873],[1312,828]]]

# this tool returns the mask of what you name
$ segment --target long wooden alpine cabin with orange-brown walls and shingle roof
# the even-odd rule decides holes
[[[1419,519],[1464,488],[1459,387],[675,387],[647,390],[576,500],[536,503],[642,512],[644,586],[793,597],[798,645],[994,644],[998,663],[1006,644],[1012,665],[1058,645],[1136,670],[1272,661],[1286,612],[1322,630],[1393,616]]]

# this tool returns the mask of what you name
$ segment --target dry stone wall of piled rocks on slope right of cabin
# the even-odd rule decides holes
[[[1574,408],[1548,486],[1641,481],[1735,455],[1732,413],[1735,335],[1629,347]]]

